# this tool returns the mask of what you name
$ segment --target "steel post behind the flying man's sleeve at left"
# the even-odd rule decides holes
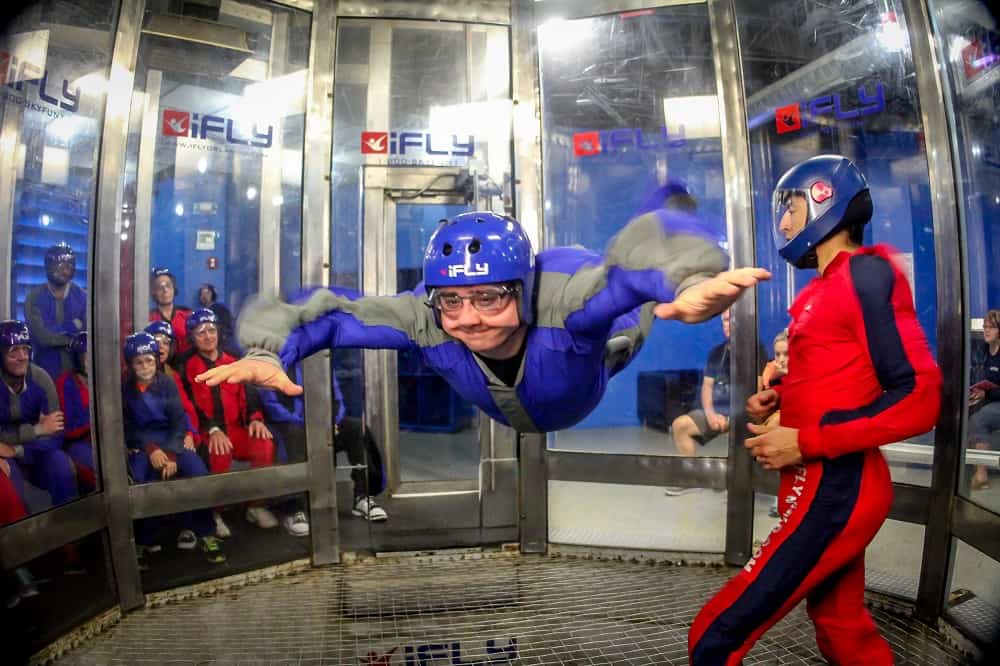
[[[330,154],[333,143],[333,58],[337,42],[337,2],[318,3],[312,17],[308,97],[302,172],[302,284],[330,280]],[[312,560],[340,561],[337,492],[330,432],[330,358],[316,354],[302,364]]]

